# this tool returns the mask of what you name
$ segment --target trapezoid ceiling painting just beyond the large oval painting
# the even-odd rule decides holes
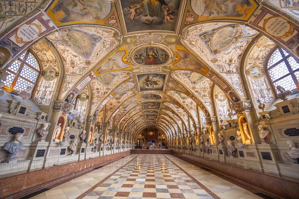
[[[165,78],[166,75],[158,73],[137,75],[139,89],[140,91],[163,91]]]

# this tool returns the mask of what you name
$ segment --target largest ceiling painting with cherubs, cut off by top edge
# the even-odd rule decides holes
[[[119,10],[124,30],[126,33],[149,29],[174,32],[184,3],[185,0],[121,0]]]

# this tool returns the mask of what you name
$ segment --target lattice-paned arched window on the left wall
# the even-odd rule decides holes
[[[24,52],[7,69],[8,75],[4,88],[9,91],[26,91],[28,86],[34,87],[40,73],[36,58],[30,51]]]

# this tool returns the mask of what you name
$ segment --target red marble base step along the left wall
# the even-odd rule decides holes
[[[130,151],[2,178],[0,179],[0,199],[26,196],[54,184],[74,179],[94,168],[110,164],[128,155]]]

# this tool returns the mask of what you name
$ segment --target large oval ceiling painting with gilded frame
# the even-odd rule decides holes
[[[132,50],[130,57],[138,66],[160,66],[170,63],[172,52],[161,44],[141,45]]]

